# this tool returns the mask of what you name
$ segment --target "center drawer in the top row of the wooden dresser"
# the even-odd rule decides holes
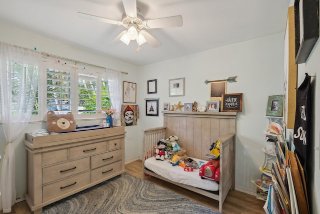
[[[87,157],[106,151],[106,141],[99,143],[87,144],[84,146],[72,147],[69,149],[70,160]]]

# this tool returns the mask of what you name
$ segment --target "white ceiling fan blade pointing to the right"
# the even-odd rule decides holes
[[[154,20],[143,21],[144,28],[167,28],[167,27],[181,27],[182,26],[182,16],[174,17],[164,17]]]

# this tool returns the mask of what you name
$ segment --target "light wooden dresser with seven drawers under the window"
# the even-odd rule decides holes
[[[26,134],[27,193],[42,207],[125,172],[124,127],[44,136]]]

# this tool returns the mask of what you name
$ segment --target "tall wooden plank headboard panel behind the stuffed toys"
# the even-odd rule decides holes
[[[236,112],[163,111],[165,137],[176,135],[187,155],[206,159],[212,142],[228,133],[235,133]]]

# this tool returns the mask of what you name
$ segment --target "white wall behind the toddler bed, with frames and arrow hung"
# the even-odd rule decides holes
[[[236,83],[227,83],[227,93],[243,93],[242,112],[236,120],[236,188],[255,194],[250,182],[260,177],[258,167],[263,163],[264,117],[269,95],[283,94],[283,34],[250,40],[222,48],[172,59],[139,68],[141,129],[162,125],[159,117],[145,116],[143,98],[159,97],[171,104],[196,101],[205,105],[209,100],[209,85],[204,81],[237,76]],[[168,80],[185,78],[185,96],[169,97]],[[157,94],[147,94],[147,80],[157,79]],[[142,136],[140,137],[142,138]],[[209,149],[209,148],[208,148]],[[142,150],[141,144],[139,151]],[[139,152],[141,156],[141,152]],[[205,157],[203,157],[205,158]]]

